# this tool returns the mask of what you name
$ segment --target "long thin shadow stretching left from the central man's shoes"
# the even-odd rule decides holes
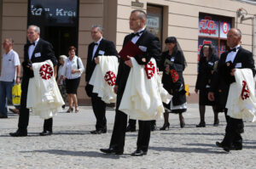
[[[20,151],[20,153],[48,153],[52,155],[71,155],[71,156],[87,156],[87,157],[98,157],[107,159],[119,159],[127,158],[131,156],[129,154],[124,155],[106,155],[96,151],[71,151],[63,149],[44,149],[44,150],[33,150],[33,151]]]

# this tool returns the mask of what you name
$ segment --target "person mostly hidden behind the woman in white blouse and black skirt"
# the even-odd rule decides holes
[[[60,56],[59,63],[61,65],[59,66],[59,70],[58,70],[58,87],[60,89],[61,96],[62,96],[65,103],[67,103],[66,84],[65,84],[65,81],[63,79],[61,79],[61,72],[63,70],[63,67],[64,67],[64,64],[65,64],[66,60],[67,60],[66,55],[61,55]],[[62,108],[65,109],[65,104],[62,105]]]

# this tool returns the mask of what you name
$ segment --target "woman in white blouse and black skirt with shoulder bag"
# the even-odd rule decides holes
[[[79,112],[77,91],[81,75],[84,71],[84,65],[82,59],[76,56],[76,49],[73,46],[68,49],[69,57],[65,61],[60,77],[60,81],[64,79],[66,82],[67,100],[69,104],[67,113],[73,112],[73,104],[75,105],[75,112]]]

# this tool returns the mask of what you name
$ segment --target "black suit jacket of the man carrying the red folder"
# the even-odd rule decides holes
[[[123,47],[129,41],[131,41],[132,35],[129,34],[125,37]],[[139,65],[147,65],[149,60],[153,57],[156,60],[157,65],[160,64],[160,42],[159,38],[155,37],[152,33],[145,30],[141,37],[136,42],[137,46],[143,46],[147,48],[147,51],[142,55],[136,55],[134,58],[137,60]],[[125,91],[125,85],[129,76],[131,68],[128,65],[125,65],[125,61],[120,59],[119,70],[116,78],[116,85],[119,86],[118,94],[122,94]]]

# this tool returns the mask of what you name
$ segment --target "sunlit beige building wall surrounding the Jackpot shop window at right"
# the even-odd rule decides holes
[[[164,7],[163,41],[167,36],[177,37],[177,40],[183,49],[183,53],[188,62],[188,66],[184,70],[183,75],[185,82],[189,84],[189,91],[192,93],[191,97],[189,97],[190,100],[197,101],[198,98],[193,93],[195,93],[194,90],[197,75],[199,13],[232,17],[234,19],[234,25],[237,25],[237,28],[242,31],[242,46],[252,51],[252,20],[246,20],[240,23],[240,20],[236,20],[236,10],[242,7],[247,10],[249,15],[253,15],[256,13],[256,6],[254,5],[231,0],[140,0],[139,2],[144,3],[142,9],[145,11],[147,10],[147,3]],[[118,1],[116,40],[118,50],[122,46],[125,35],[131,32],[129,30],[129,16],[132,9],[134,9],[134,7],[131,7],[131,1]],[[162,42],[162,44],[164,43]]]

